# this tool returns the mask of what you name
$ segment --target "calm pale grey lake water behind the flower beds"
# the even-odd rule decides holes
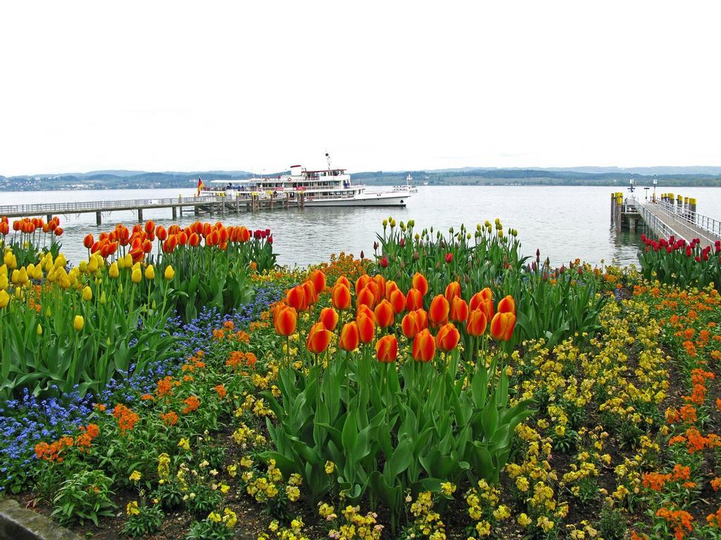
[[[372,187],[368,191],[382,191]],[[553,264],[567,264],[581,258],[591,264],[616,261],[619,264],[637,263],[640,247],[639,234],[616,233],[609,223],[611,192],[613,187],[591,186],[420,186],[418,193],[408,199],[406,208],[304,208],[294,210],[265,210],[205,217],[222,220],[227,225],[245,225],[247,228],[270,228],[274,248],[280,264],[299,265],[327,261],[331,253],[353,253],[364,250],[373,254],[376,233],[382,233],[384,217],[392,215],[397,221],[414,219],[416,228],[447,230],[465,223],[474,228],[477,223],[494,220],[503,222],[504,228],[518,229],[525,254],[541,250],[541,257],[549,257]],[[681,193],[698,199],[698,212],[716,219],[721,218],[720,188],[668,188],[660,192]],[[4,192],[0,204],[28,204],[43,202],[94,201],[113,199],[149,199],[190,197],[194,189],[118,189],[66,192]],[[637,196],[644,197],[643,189]],[[172,224],[170,209],[143,212],[146,220],[152,219],[166,227]],[[63,252],[78,261],[87,256],[82,238],[87,233],[96,237],[117,222],[132,225],[135,212],[112,212],[103,215],[102,227],[95,225],[94,214],[66,215],[61,217],[65,228]],[[193,216],[179,220],[181,225],[193,222]]]

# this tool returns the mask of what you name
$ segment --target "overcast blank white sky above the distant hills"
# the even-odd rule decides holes
[[[716,1],[4,1],[0,174],[721,165]]]

